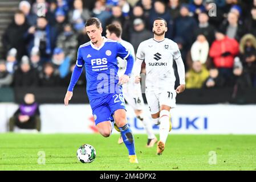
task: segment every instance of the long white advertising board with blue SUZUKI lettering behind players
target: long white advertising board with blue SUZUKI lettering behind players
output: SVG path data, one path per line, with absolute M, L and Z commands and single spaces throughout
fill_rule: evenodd
M 0 133 L 7 131 L 8 119 L 18 105 L 0 104 Z M 90 105 L 40 105 L 42 133 L 95 133 Z M 256 105 L 177 105 L 172 109 L 172 134 L 256 134 Z M 127 106 L 129 125 L 133 133 L 145 133 L 142 123 Z M 145 106 L 145 119 L 149 110 Z M 158 127 L 153 125 L 158 133 Z M 117 131 L 113 131 L 117 133 Z

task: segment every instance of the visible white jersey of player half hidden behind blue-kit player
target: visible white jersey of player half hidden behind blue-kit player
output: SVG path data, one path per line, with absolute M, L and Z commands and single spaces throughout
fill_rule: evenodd
M 135 51 L 131 43 L 121 40 L 119 42 L 122 46 L 124 46 L 132 55 L 133 58 L 135 58 Z M 126 67 L 127 67 L 127 61 L 124 59 L 121 59 L 121 57 L 117 57 L 117 65 L 119 67 L 117 75 L 120 77 L 121 75 L 124 75 Z

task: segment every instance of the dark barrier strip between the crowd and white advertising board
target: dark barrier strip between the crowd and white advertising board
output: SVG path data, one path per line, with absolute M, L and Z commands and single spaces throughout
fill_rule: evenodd
M 66 94 L 66 87 L 49 87 L 49 88 L 0 88 L 0 103 L 1 102 L 23 102 L 23 97 L 26 93 L 35 94 L 36 100 L 40 104 L 62 104 Z M 144 101 L 145 94 L 143 94 Z M 218 88 L 218 89 L 186 89 L 182 94 L 176 97 L 178 104 L 256 104 L 256 88 L 244 88 L 243 90 L 233 88 Z M 89 103 L 86 89 L 77 86 L 74 89 L 74 96 L 71 100 L 72 104 Z

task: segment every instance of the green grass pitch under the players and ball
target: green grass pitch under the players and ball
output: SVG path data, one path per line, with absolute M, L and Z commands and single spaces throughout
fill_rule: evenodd
M 170 134 L 165 151 L 158 156 L 156 146 L 145 147 L 147 135 L 137 134 L 139 164 L 128 162 L 128 152 L 124 144 L 117 144 L 118 138 L 117 134 L 109 138 L 100 134 L 0 134 L 0 170 L 256 170 L 256 135 Z M 84 143 L 96 148 L 96 159 L 90 164 L 76 158 L 76 150 Z M 38 164 L 43 161 L 40 151 L 45 164 Z

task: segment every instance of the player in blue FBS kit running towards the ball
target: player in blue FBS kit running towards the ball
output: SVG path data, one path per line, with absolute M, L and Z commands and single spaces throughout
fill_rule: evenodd
M 87 20 L 86 32 L 91 41 L 81 45 L 78 49 L 76 66 L 64 98 L 64 104 L 67 106 L 68 101 L 71 100 L 74 86 L 84 67 L 86 69 L 87 95 L 97 130 L 103 137 L 109 137 L 115 122 L 128 149 L 129 162 L 138 163 L 133 134 L 127 123 L 121 86 L 128 82 L 135 60 L 120 43 L 101 36 L 102 31 L 99 19 Z M 127 60 L 127 69 L 120 77 L 117 75 L 117 57 Z

